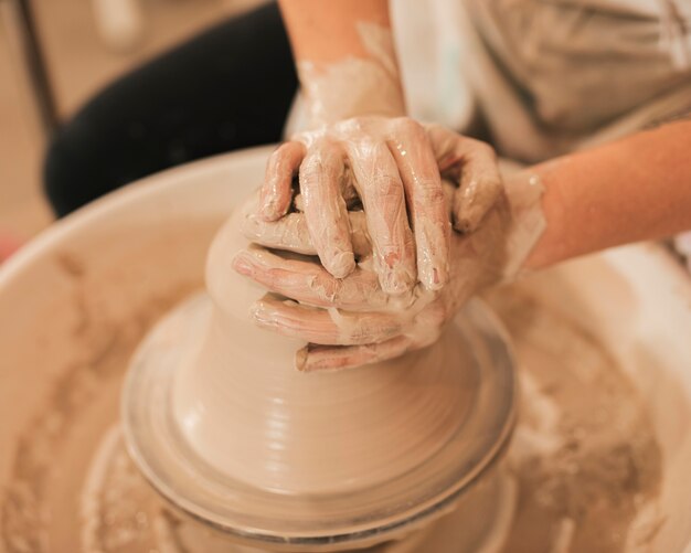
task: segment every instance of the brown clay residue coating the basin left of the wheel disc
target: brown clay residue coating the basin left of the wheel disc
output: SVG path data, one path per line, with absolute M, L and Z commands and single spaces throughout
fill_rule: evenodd
M 78 551 L 78 489 L 94 439 L 115 419 L 129 358 L 151 325 L 201 286 L 201 275 L 169 278 L 161 286 L 159 274 L 145 284 L 120 283 L 118 291 L 114 279 L 104 281 L 104 275 L 94 274 L 77 255 L 59 253 L 54 263 L 72 290 L 67 298 L 56 296 L 53 311 L 55 320 L 72 321 L 70 338 L 53 351 L 55 359 L 41 358 L 46 377 L 57 377 L 33 422 L 18 436 L 0 504 L 0 545 L 8 553 Z M 117 297 L 106 298 L 114 290 Z M 117 307 L 108 309 L 114 304 Z M 64 309 L 74 317 L 63 317 Z M 49 341 L 52 325 L 35 321 L 38 347 Z

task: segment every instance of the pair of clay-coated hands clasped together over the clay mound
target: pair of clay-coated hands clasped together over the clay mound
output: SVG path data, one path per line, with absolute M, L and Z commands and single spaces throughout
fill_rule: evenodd
M 491 148 L 397 119 L 408 135 L 394 148 L 385 134 L 381 142 L 368 134 L 359 146 L 344 138 L 365 125 L 383 127 L 376 119 L 346 121 L 342 134 L 319 131 L 281 146 L 269 160 L 261 195 L 245 206 L 243 232 L 254 244 L 236 255 L 234 268 L 268 290 L 252 310 L 257 325 L 309 342 L 296 357 L 301 370 L 358 366 L 432 344 L 460 306 L 502 279 L 508 266 L 512 202 Z M 440 172 L 460 185 L 443 183 Z M 440 196 L 429 191 L 437 185 Z M 415 193 L 422 198 L 410 200 Z M 445 234 L 449 221 L 466 232 Z M 333 263 L 323 263 L 334 236 L 340 252 L 352 258 L 352 267 L 336 272 L 346 273 L 340 278 Z M 384 252 L 401 255 L 387 264 Z M 426 267 L 421 268 L 421 257 Z M 429 267 L 445 262 L 443 286 L 425 278 L 433 274 Z M 412 280 L 392 286 L 402 284 L 401 273 Z

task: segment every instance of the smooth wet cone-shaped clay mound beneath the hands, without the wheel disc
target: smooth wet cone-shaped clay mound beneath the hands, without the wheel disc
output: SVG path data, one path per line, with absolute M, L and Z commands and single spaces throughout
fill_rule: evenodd
M 200 329 L 199 355 L 174 380 L 174 418 L 191 447 L 223 475 L 284 493 L 360 490 L 434 455 L 463 424 L 478 385 L 471 352 L 451 357 L 455 331 L 438 348 L 371 368 L 295 371 L 305 342 L 248 317 L 265 290 L 232 268 L 232 255 L 247 246 L 242 222 L 238 212 L 211 247 L 213 315 Z

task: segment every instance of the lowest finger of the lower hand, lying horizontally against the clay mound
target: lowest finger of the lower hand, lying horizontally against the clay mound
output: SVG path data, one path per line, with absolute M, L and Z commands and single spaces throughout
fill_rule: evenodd
M 403 355 L 412 348 L 412 341 L 405 336 L 392 338 L 385 342 L 365 345 L 315 345 L 308 344 L 296 353 L 298 371 L 325 371 L 353 369 Z

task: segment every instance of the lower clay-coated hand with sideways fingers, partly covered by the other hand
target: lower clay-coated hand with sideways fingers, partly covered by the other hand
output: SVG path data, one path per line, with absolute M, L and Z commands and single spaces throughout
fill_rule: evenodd
M 453 193 L 447 194 L 449 199 Z M 520 205 L 513 212 L 520 214 Z M 289 217 L 276 223 L 251 217 L 249 234 L 263 231 L 266 245 L 309 254 L 309 235 L 305 230 L 295 232 L 306 225 L 304 216 Z M 364 260 L 343 279 L 315 260 L 281 256 L 258 245 L 241 252 L 234 267 L 274 293 L 253 309 L 257 325 L 310 342 L 299 352 L 298 368 L 358 366 L 429 345 L 472 294 L 503 278 L 514 265 L 508 255 L 510 236 L 515 236 L 509 232 L 515 227 L 513 219 L 502 196 L 475 233 L 454 233 L 449 283 L 439 291 L 417 286 L 404 295 L 386 294 L 366 257 L 366 233 L 357 240 Z M 360 227 L 357 213 L 351 213 L 351 221 L 354 228 Z

